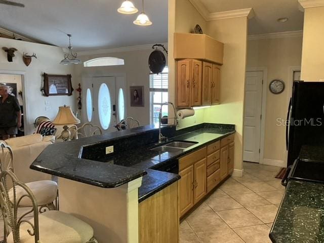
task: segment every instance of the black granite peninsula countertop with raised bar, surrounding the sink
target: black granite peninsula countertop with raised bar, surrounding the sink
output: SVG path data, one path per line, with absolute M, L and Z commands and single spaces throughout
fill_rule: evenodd
M 158 152 L 150 150 L 156 142 L 158 131 L 146 126 L 50 145 L 36 158 L 30 168 L 104 188 L 117 187 L 143 176 L 142 186 L 139 188 L 139 201 L 142 201 L 180 179 L 178 174 L 154 170 L 157 166 L 171 163 L 234 132 L 234 125 L 197 125 L 176 131 L 169 139 L 196 142 L 193 146 L 177 152 Z M 142 139 L 144 137 L 151 142 Z M 142 140 L 145 140 L 145 145 L 133 145 L 140 144 Z M 103 147 L 118 141 L 123 141 L 121 145 L 125 145 L 127 150 L 100 155 Z M 96 150 L 99 146 L 100 149 Z

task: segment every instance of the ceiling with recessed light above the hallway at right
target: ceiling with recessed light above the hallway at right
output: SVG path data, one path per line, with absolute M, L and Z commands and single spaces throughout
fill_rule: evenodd
M 249 33 L 275 33 L 303 29 L 304 13 L 298 0 L 199 0 L 210 13 L 253 8 L 255 17 L 249 20 Z M 278 18 L 287 17 L 286 23 Z

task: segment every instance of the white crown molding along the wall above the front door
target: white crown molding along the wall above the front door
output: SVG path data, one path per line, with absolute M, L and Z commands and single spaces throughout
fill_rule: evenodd
M 156 44 L 156 43 L 154 43 Z M 100 50 L 87 50 L 87 51 L 77 51 L 78 56 L 88 56 L 88 55 L 98 55 L 105 53 L 116 53 L 116 52 L 132 52 L 132 51 L 141 51 L 152 49 L 154 44 L 138 45 L 138 46 L 129 46 L 129 47 L 118 47 L 110 49 L 100 49 Z M 161 43 L 168 48 L 168 43 Z

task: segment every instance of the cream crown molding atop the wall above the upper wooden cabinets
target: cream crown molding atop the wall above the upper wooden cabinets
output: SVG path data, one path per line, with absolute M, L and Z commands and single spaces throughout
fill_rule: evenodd
M 239 17 L 248 17 L 249 19 L 251 19 L 254 17 L 254 11 L 252 8 L 210 13 L 200 0 L 189 0 L 189 2 L 206 21 Z

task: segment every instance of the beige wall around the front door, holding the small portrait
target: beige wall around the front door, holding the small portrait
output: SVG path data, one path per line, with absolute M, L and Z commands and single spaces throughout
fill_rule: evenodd
M 84 67 L 83 64 L 75 67 L 75 75 L 78 79 L 86 75 L 111 75 L 119 76 L 126 75 L 127 87 L 124 95 L 126 101 L 126 116 L 132 116 L 140 121 L 141 125 L 148 125 L 150 123 L 150 97 L 149 97 L 149 67 L 148 57 L 152 49 L 116 52 L 116 53 L 102 53 L 98 55 L 79 55 L 78 57 L 84 62 L 93 58 L 99 57 L 117 57 L 125 60 L 125 65 L 106 66 L 106 67 Z M 81 53 L 82 54 L 82 53 Z M 130 106 L 129 96 L 130 86 L 144 86 L 144 107 Z M 84 89 L 86 90 L 86 89 Z M 86 95 L 83 95 L 83 104 L 86 107 Z M 117 97 L 116 97 L 117 98 Z M 85 112 L 84 112 L 85 113 Z

